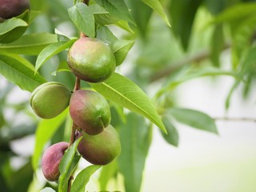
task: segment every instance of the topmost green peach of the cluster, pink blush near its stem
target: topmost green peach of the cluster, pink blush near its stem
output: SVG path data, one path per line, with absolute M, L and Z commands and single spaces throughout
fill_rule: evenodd
M 70 47 L 67 56 L 70 70 L 87 82 L 102 82 L 113 74 L 114 54 L 105 42 L 96 38 L 79 38 Z

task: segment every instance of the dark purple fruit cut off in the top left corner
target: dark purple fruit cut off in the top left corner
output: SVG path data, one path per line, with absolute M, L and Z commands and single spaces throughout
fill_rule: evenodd
M 0 0 L 0 18 L 13 18 L 30 10 L 29 0 Z

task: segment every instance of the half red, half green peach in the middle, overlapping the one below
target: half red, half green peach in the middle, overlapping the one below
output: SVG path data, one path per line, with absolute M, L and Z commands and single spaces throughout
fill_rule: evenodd
M 93 90 L 77 90 L 70 98 L 70 116 L 87 134 L 99 134 L 110 124 L 110 106 Z

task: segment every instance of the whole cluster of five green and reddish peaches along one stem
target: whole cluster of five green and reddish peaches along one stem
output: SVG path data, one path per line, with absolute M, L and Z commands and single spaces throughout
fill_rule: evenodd
M 115 70 L 114 54 L 104 42 L 96 38 L 79 38 L 70 47 L 67 57 L 70 70 L 87 82 L 102 82 Z M 75 138 L 81 136 L 78 152 L 88 162 L 106 165 L 120 154 L 117 131 L 110 125 L 110 106 L 94 90 L 74 90 L 72 93 L 59 82 L 46 82 L 31 95 L 30 106 L 41 118 L 54 118 L 70 106 L 70 116 L 77 126 Z M 58 142 L 46 149 L 42 156 L 42 172 L 49 181 L 57 181 L 58 166 L 67 142 Z

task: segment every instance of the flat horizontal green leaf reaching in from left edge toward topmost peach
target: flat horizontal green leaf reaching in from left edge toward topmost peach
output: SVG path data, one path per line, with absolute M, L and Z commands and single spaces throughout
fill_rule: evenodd
M 15 42 L 0 43 L 0 51 L 4 50 L 13 54 L 37 55 L 46 46 L 54 42 L 58 42 L 56 34 L 25 34 Z

